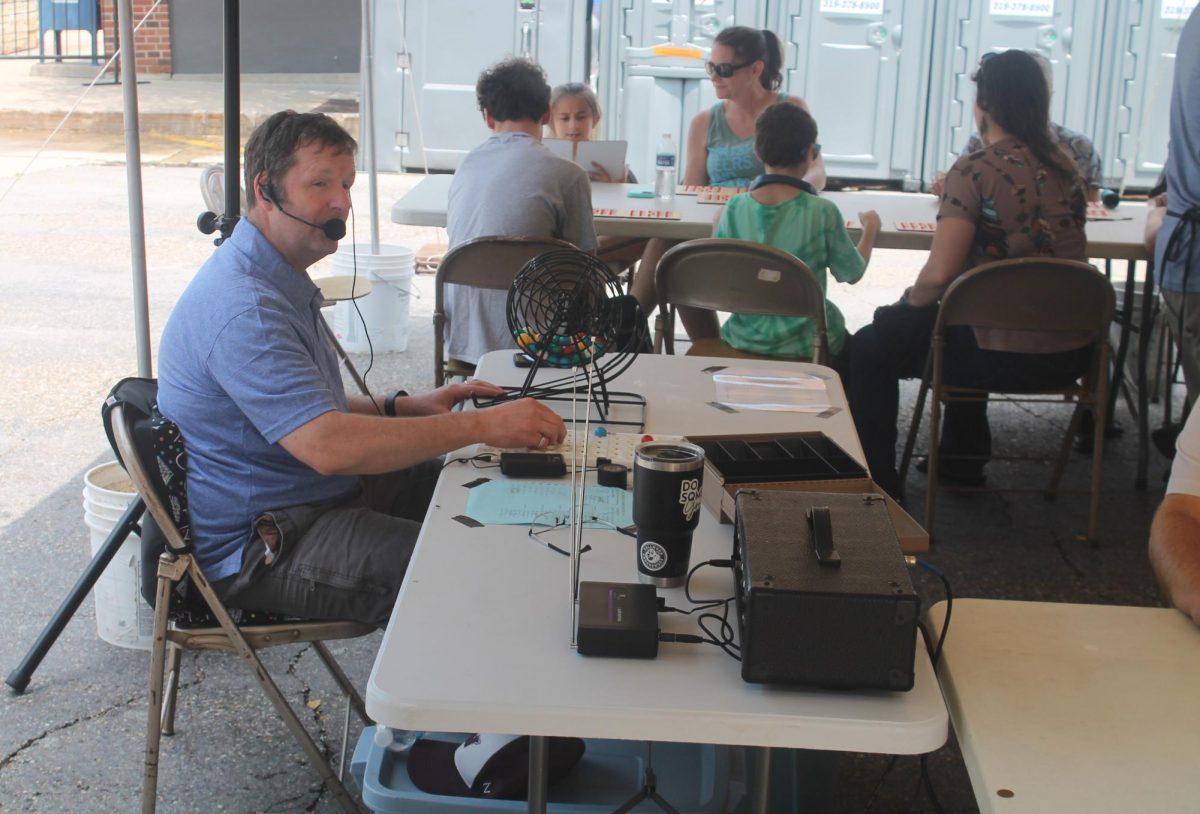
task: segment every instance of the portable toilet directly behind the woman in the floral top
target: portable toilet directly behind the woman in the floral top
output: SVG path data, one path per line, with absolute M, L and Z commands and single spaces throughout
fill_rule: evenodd
M 1043 53 L 1054 73 L 1050 120 L 1094 139 L 1104 29 L 1104 14 L 1097 13 L 1096 5 L 1086 0 L 938 4 L 925 130 L 925 184 L 949 169 L 974 133 L 971 77 L 988 52 L 1022 48 Z

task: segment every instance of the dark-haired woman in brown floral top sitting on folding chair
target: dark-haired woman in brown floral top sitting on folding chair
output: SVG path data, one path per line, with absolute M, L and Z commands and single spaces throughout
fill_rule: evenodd
M 989 55 L 976 72 L 976 122 L 983 148 L 950 168 L 934 244 L 916 283 L 900 303 L 875 312 L 850 351 L 847 391 L 876 483 L 904 493 L 895 471 L 899 379 L 922 375 L 937 303 L 962 273 L 1013 257 L 1086 259 L 1087 193 L 1079 172 L 1049 127 L 1050 94 L 1037 61 L 1024 50 Z M 944 381 L 1003 390 L 1067 384 L 1087 361 L 1087 348 L 1046 343 L 1044 336 L 950 328 Z M 991 453 L 988 403 L 947 406 L 938 474 L 984 481 Z

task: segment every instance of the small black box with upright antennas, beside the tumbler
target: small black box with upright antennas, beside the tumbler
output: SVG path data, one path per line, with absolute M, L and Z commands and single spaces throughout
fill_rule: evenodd
M 653 585 L 580 582 L 581 656 L 652 659 L 659 654 L 659 599 Z

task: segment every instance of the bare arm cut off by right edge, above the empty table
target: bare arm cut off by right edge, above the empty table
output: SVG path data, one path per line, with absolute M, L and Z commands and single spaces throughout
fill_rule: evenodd
M 1168 601 L 1200 626 L 1200 497 L 1163 498 L 1150 527 L 1150 564 Z

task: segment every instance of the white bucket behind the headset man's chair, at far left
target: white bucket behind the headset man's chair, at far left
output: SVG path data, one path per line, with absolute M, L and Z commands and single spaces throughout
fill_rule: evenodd
M 83 520 L 91 532 L 91 553 L 108 539 L 136 492 L 119 463 L 101 463 L 84 475 Z M 92 588 L 96 633 L 118 647 L 150 650 L 154 611 L 142 599 L 142 541 L 130 534 Z

